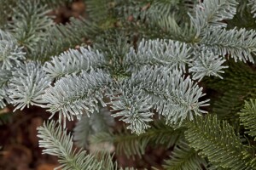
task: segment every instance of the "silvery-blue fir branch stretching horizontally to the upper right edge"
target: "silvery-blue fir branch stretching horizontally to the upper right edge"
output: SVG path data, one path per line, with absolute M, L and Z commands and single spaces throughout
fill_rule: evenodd
M 229 54 L 236 61 L 239 59 L 244 62 L 247 60 L 254 62 L 252 54 L 256 54 L 255 37 L 256 32 L 253 30 L 237 30 L 236 28 L 232 30 L 214 29 L 207 31 L 200 43 L 212 50 L 214 54 Z

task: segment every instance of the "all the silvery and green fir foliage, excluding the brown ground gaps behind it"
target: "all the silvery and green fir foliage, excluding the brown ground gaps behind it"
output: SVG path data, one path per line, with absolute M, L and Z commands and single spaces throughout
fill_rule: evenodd
M 84 148 L 141 157 L 163 145 L 164 169 L 256 169 L 256 1 L 84 0 L 87 18 L 56 24 L 49 11 L 72 3 L 0 0 L 0 107 L 52 114 L 44 153 L 62 169 L 128 170 Z

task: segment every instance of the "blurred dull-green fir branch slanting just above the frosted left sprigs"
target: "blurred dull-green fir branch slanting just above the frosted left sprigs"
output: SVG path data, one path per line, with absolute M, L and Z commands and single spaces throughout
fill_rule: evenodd
M 29 54 L 28 58 L 48 60 L 49 57 L 59 55 L 68 48 L 84 42 L 84 38 L 91 38 L 99 33 L 99 28 L 92 22 L 83 18 L 71 18 L 66 25 L 55 25 L 49 28 L 49 36 Z

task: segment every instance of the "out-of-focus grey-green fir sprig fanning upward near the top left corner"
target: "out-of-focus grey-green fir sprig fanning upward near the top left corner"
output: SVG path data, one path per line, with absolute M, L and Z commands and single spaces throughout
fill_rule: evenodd
M 32 51 L 38 42 L 44 41 L 49 36 L 49 27 L 54 23 L 46 15 L 48 13 L 47 6 L 41 5 L 38 0 L 20 1 L 14 8 L 9 31 L 14 34 L 20 45 Z

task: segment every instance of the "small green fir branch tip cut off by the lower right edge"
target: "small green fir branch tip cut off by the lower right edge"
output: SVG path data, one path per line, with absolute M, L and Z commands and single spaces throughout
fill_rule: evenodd
M 245 101 L 245 105 L 241 109 L 239 117 L 241 125 L 247 130 L 246 133 L 256 140 L 256 100 L 250 99 L 249 101 Z

